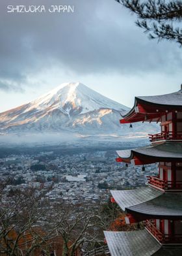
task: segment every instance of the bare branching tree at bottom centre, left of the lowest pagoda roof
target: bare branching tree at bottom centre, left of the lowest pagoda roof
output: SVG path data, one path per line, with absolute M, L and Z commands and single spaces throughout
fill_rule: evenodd
M 73 256 L 83 244 L 102 242 L 99 240 L 99 219 L 91 208 L 84 204 L 54 206 L 49 214 L 47 229 L 54 229 L 62 238 L 62 256 Z

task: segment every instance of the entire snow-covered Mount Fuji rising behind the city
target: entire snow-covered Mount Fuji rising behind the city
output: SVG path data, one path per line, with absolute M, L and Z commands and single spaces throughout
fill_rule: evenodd
M 116 103 L 87 86 L 64 83 L 42 97 L 0 113 L 0 133 L 79 133 L 80 135 L 147 134 L 152 124 L 137 123 L 133 129 L 120 125 L 127 106 Z

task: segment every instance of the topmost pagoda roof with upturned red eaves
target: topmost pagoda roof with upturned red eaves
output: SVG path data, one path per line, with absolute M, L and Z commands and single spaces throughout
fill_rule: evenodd
M 174 93 L 135 97 L 135 104 L 120 123 L 136 121 L 160 121 L 161 116 L 174 110 L 181 110 L 182 89 Z

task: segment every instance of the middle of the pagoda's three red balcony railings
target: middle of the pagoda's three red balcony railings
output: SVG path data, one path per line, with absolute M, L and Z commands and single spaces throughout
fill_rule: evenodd
M 182 180 L 172 182 L 167 180 L 161 180 L 157 176 L 147 176 L 147 178 L 148 184 L 159 187 L 160 189 L 182 190 Z

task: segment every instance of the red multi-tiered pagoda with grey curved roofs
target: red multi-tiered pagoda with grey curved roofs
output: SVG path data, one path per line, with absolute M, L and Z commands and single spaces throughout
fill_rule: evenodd
M 111 256 L 182 255 L 182 86 L 166 95 L 135 97 L 133 108 L 120 123 L 160 123 L 151 144 L 120 150 L 116 161 L 131 165 L 159 163 L 159 174 L 148 185 L 111 191 L 112 201 L 126 212 L 127 224 L 144 221 L 138 231 L 105 231 Z M 144 169 L 144 168 L 143 168 Z

